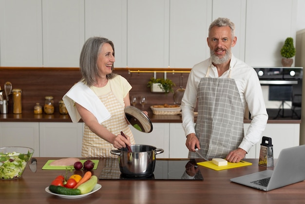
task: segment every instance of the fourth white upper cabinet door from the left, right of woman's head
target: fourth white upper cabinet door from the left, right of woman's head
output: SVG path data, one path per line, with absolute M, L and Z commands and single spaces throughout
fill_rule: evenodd
M 169 66 L 169 0 L 132 0 L 127 4 L 127 65 Z

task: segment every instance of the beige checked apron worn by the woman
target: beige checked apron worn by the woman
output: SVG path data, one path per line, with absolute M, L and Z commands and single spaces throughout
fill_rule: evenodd
M 117 101 L 114 94 L 110 91 L 108 94 L 99 97 L 104 103 L 105 107 L 111 114 L 111 118 L 105 122 L 102 122 L 105 128 L 107 128 L 114 135 L 120 134 L 121 131 L 130 137 L 130 142 L 134 144 L 133 133 L 129 128 L 126 120 L 124 107 Z M 85 124 L 81 156 L 82 157 L 112 157 L 116 158 L 116 155 L 110 153 L 110 150 L 116 149 L 112 143 L 101 139 L 95 133 L 93 133 L 89 127 Z

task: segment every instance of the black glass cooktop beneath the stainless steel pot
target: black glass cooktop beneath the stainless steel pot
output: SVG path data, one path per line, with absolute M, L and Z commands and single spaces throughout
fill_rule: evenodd
M 104 180 L 203 180 L 195 160 L 156 160 L 152 175 L 125 176 L 117 158 L 107 158 L 99 179 Z

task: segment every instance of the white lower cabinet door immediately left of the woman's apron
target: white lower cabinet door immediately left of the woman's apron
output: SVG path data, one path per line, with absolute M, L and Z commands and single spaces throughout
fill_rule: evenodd
M 81 157 L 82 135 L 82 122 L 39 122 L 40 157 Z

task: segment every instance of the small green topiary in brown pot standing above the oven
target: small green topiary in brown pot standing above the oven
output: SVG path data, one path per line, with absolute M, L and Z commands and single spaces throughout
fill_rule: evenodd
M 281 55 L 283 57 L 283 66 L 291 66 L 293 63 L 292 57 L 295 56 L 295 47 L 293 45 L 292 38 L 286 38 L 285 43 L 281 49 Z

